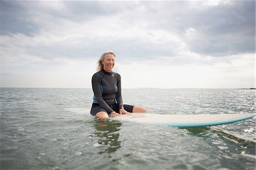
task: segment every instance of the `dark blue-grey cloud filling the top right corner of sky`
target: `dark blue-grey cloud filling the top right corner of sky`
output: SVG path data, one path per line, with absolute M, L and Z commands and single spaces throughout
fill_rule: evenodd
M 162 3 L 167 7 L 161 8 L 163 14 L 152 16 L 156 22 L 149 27 L 176 32 L 192 52 L 211 56 L 255 52 L 255 1 L 228 1 L 207 7 L 196 1 L 181 2 L 179 10 L 170 12 L 168 7 L 177 2 Z M 191 27 L 196 32 L 188 40 L 185 33 Z

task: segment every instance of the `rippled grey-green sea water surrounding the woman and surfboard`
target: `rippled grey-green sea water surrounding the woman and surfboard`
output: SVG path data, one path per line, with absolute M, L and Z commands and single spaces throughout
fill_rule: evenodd
M 148 114 L 255 113 L 255 90 L 123 89 Z M 255 120 L 177 128 L 98 121 L 91 89 L 1 88 L 0 169 L 255 169 Z

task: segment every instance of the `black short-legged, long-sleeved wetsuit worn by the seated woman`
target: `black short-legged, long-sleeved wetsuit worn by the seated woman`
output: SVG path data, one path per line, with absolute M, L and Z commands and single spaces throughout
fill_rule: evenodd
M 132 112 L 133 106 L 123 105 L 121 94 L 121 76 L 115 72 L 106 72 L 104 69 L 93 74 L 93 105 L 90 113 L 96 115 L 98 111 L 105 111 L 110 114 L 119 109 Z

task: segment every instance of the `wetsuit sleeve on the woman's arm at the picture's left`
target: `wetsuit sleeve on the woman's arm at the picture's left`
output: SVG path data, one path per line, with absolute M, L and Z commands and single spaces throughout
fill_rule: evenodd
M 101 78 L 97 74 L 94 74 L 92 77 L 92 89 L 94 96 L 96 97 L 98 104 L 108 112 L 108 114 L 112 113 L 113 110 L 109 105 L 104 101 L 101 94 Z

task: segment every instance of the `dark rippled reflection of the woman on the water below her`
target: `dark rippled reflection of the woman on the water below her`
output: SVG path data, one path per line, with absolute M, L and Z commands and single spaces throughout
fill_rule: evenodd
M 96 131 L 94 132 L 93 136 L 98 136 L 98 144 L 108 146 L 105 150 L 101 150 L 98 154 L 103 153 L 112 153 L 118 150 L 121 147 L 121 141 L 118 140 L 119 138 L 119 130 L 121 129 L 122 123 L 119 121 L 114 120 L 106 120 L 100 121 L 96 120 L 94 126 Z

